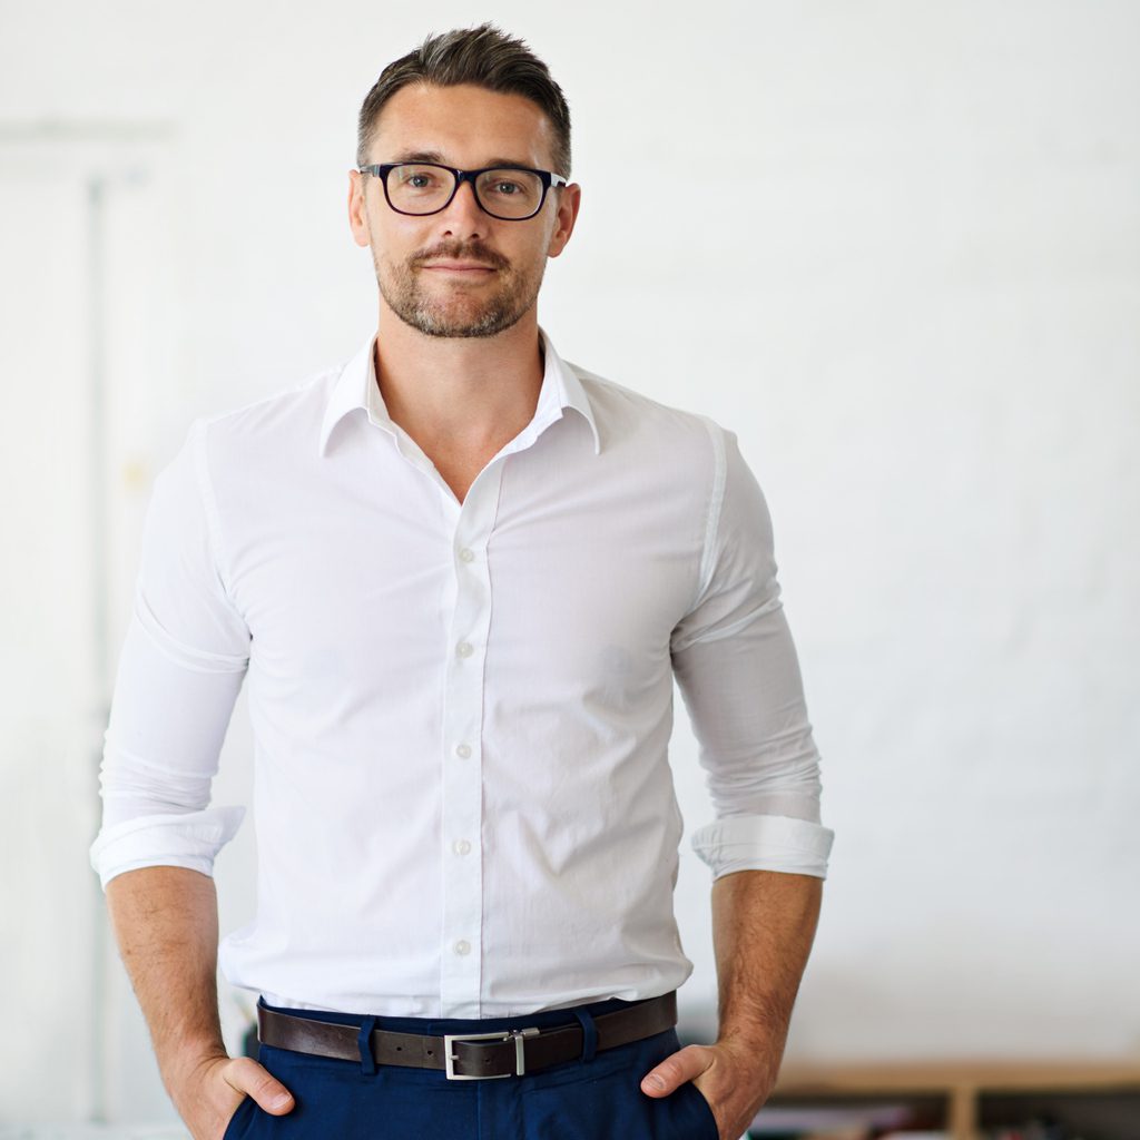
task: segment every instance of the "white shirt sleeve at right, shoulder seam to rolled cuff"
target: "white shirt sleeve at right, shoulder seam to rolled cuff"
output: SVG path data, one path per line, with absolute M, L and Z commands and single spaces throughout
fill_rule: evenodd
M 714 822 L 693 836 L 714 877 L 824 878 L 820 756 L 780 601 L 772 522 L 736 438 L 709 423 L 714 478 L 700 587 L 673 632 L 674 671 L 707 773 Z

